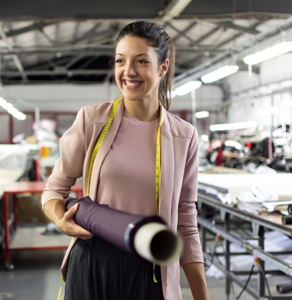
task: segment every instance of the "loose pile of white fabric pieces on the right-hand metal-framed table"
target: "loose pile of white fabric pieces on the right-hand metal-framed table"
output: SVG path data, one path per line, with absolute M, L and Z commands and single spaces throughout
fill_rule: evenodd
M 237 207 L 254 214 L 280 211 L 288 214 L 288 205 L 292 204 L 292 191 L 279 187 L 251 187 L 237 197 Z

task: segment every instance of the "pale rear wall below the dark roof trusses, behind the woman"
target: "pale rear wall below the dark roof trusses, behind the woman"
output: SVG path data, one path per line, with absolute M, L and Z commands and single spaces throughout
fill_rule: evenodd
M 119 95 L 117 85 L 8 85 L 0 92 L 0 97 L 11 101 L 22 111 L 34 111 L 32 106 L 22 104 L 18 98 L 38 106 L 41 111 L 74 111 L 88 104 L 113 101 Z M 197 107 L 220 104 L 223 95 L 217 86 L 202 85 L 196 91 Z M 176 96 L 172 100 L 171 110 L 191 110 L 191 94 Z M 0 108 L 1 111 L 1 108 Z M 4 111 L 4 110 L 2 110 Z

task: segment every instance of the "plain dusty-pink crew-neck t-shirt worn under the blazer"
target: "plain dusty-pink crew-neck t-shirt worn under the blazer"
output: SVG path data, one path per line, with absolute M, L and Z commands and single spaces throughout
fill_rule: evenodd
M 125 110 L 100 170 L 97 202 L 144 216 L 156 215 L 155 161 L 159 118 L 138 121 Z

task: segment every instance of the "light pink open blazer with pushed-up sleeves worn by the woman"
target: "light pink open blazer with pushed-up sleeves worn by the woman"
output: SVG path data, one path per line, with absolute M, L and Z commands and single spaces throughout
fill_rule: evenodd
M 83 107 L 72 127 L 60 139 L 60 158 L 56 161 L 52 175 L 41 196 L 44 207 L 51 199 L 64 201 L 82 176 L 83 195 L 86 195 L 89 166 L 93 149 L 107 122 L 114 101 Z M 160 103 L 160 107 L 164 110 Z M 114 140 L 122 120 L 124 101 L 120 101 L 112 124 L 104 138 L 93 165 L 89 197 L 96 199 L 101 164 Z M 161 113 L 160 113 L 161 118 Z M 203 253 L 197 230 L 197 180 L 198 138 L 197 131 L 188 122 L 164 110 L 161 126 L 161 176 L 159 191 L 159 216 L 182 235 L 184 248 L 180 259 L 161 266 L 164 298 L 182 299 L 179 286 L 179 265 L 203 262 Z M 68 258 L 77 238 L 73 238 L 65 254 L 61 273 L 66 280 Z

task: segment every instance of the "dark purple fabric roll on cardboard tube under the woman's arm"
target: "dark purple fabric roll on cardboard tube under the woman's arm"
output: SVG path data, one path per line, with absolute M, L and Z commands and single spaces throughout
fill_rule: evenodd
M 176 260 L 182 251 L 182 239 L 157 216 L 145 217 L 93 202 L 89 196 L 65 199 L 66 209 L 76 203 L 74 216 L 78 225 L 122 250 L 150 262 L 165 265 Z

